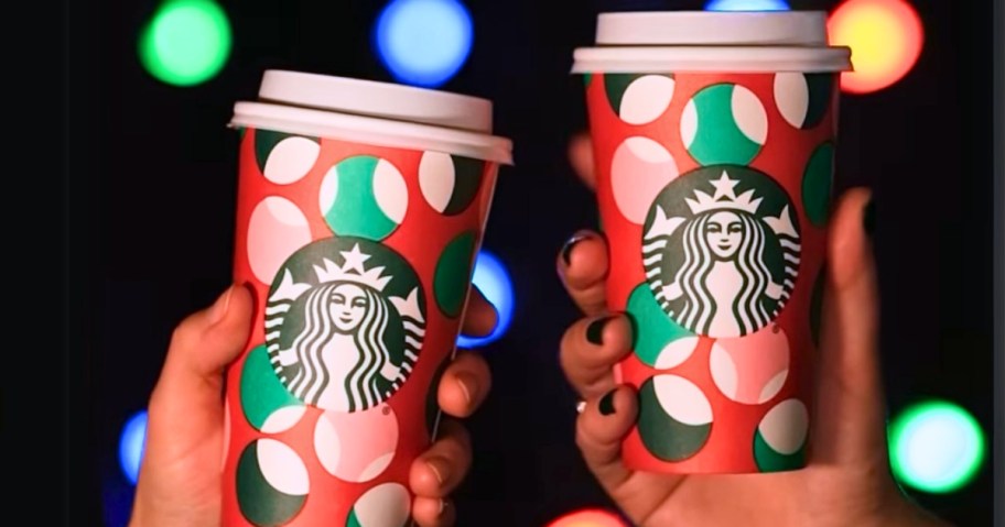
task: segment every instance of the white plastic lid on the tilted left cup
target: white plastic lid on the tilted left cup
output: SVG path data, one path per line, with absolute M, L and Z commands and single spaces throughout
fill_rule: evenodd
M 233 127 L 512 163 L 512 142 L 491 135 L 493 103 L 389 83 L 267 70 L 259 101 L 238 102 Z

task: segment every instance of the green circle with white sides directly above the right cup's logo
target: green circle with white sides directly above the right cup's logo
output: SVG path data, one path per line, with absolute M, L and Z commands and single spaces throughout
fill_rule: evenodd
M 747 165 L 767 141 L 767 112 L 747 88 L 710 86 L 692 98 L 681 118 L 688 152 L 703 166 Z

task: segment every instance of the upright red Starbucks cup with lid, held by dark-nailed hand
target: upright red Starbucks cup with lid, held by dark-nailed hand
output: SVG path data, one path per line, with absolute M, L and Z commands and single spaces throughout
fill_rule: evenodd
M 584 74 L 633 469 L 806 465 L 838 131 L 822 12 L 605 13 Z

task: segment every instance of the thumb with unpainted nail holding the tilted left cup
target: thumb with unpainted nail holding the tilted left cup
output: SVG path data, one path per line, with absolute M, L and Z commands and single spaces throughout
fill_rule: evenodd
M 175 328 L 150 398 L 149 455 L 171 459 L 171 453 L 188 451 L 223 427 L 224 370 L 247 343 L 252 303 L 246 287 L 231 286 L 213 306 Z M 170 452 L 158 452 L 162 448 Z

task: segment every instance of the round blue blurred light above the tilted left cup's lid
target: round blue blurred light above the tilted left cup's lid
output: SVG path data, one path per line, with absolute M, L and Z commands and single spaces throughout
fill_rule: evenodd
M 471 54 L 472 18 L 458 0 L 392 0 L 377 19 L 383 65 L 400 83 L 435 88 Z

